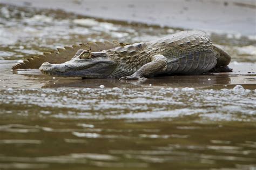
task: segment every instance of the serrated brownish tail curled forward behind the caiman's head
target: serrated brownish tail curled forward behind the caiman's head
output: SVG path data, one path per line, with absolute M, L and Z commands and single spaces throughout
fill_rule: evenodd
M 64 49 L 57 48 L 56 51 L 44 52 L 43 55 L 33 56 L 23 60 L 23 62 L 12 66 L 12 70 L 16 69 L 39 69 L 44 62 L 51 64 L 60 64 L 68 62 L 79 49 L 91 50 L 91 52 L 113 49 L 117 46 L 122 46 L 123 43 L 119 43 L 117 40 L 113 42 L 89 42 L 85 44 L 64 46 Z

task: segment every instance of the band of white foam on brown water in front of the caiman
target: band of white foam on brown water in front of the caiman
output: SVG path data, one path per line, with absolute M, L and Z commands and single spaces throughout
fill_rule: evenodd
M 239 112 L 244 115 L 242 120 L 248 121 L 246 117 L 256 114 L 253 107 L 256 105 L 254 91 L 244 89 L 241 85 L 221 91 L 212 89 L 195 90 L 188 87 L 173 91 L 173 89 L 162 87 L 159 91 L 148 89 L 146 92 L 139 89 L 99 88 L 70 89 L 68 91 L 66 89 L 48 89 L 41 93 L 36 89 L 32 91 L 9 89 L 7 91 L 2 90 L 5 93 L 5 96 L 0 98 L 2 104 L 12 103 L 12 105 L 22 104 L 45 108 L 57 107 L 64 110 L 68 108 L 78 111 L 78 114 L 41 112 L 44 116 L 49 115 L 50 117 L 64 119 L 151 120 L 184 117 L 186 115 L 200 115 L 201 118 L 214 115 L 217 118 L 218 115 L 222 115 L 222 117 L 232 115 L 232 117 L 235 117 L 233 113 Z M 12 98 L 13 93 L 16 94 L 15 98 Z M 164 96 L 162 96 L 162 93 L 164 93 Z M 44 95 L 43 98 L 42 94 Z M 246 98 L 242 98 L 243 96 L 246 96 Z M 26 100 L 28 98 L 30 100 Z M 117 101 L 119 101 L 118 105 Z M 204 109 L 205 106 L 207 106 L 207 109 Z M 133 112 L 123 112 L 126 109 Z M 218 114 L 215 110 L 218 111 Z M 47 114 L 45 114 L 46 112 Z M 238 116 L 240 119 L 240 115 Z M 211 116 L 211 118 L 214 117 Z M 254 119 L 251 119 L 251 121 L 254 121 Z

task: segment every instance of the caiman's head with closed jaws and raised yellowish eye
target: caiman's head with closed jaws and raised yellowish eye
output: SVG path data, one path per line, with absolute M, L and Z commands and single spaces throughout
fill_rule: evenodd
M 39 70 L 51 76 L 106 78 L 113 72 L 116 65 L 116 62 L 104 52 L 80 49 L 70 61 L 62 64 L 45 62 Z

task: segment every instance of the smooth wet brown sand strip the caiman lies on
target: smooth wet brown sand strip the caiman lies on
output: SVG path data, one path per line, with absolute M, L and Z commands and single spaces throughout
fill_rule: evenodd
M 0 89 L 8 88 L 57 88 L 57 87 L 79 87 L 99 88 L 105 87 L 194 87 L 207 89 L 233 88 L 235 85 L 246 85 L 248 89 L 254 90 L 256 84 L 255 63 L 232 63 L 232 73 L 213 73 L 198 76 L 167 76 L 148 78 L 146 81 L 130 80 L 119 81 L 118 79 L 81 79 L 47 76 L 39 70 L 17 70 L 12 72 L 10 67 L 16 62 L 2 60 L 0 62 Z

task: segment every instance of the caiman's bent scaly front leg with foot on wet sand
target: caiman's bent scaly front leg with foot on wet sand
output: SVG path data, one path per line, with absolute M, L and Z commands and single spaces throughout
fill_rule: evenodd
M 163 55 L 154 55 L 151 57 L 149 63 L 140 67 L 131 76 L 121 77 L 123 79 L 145 79 L 145 77 L 152 77 L 158 73 L 164 72 L 167 69 L 167 59 Z

